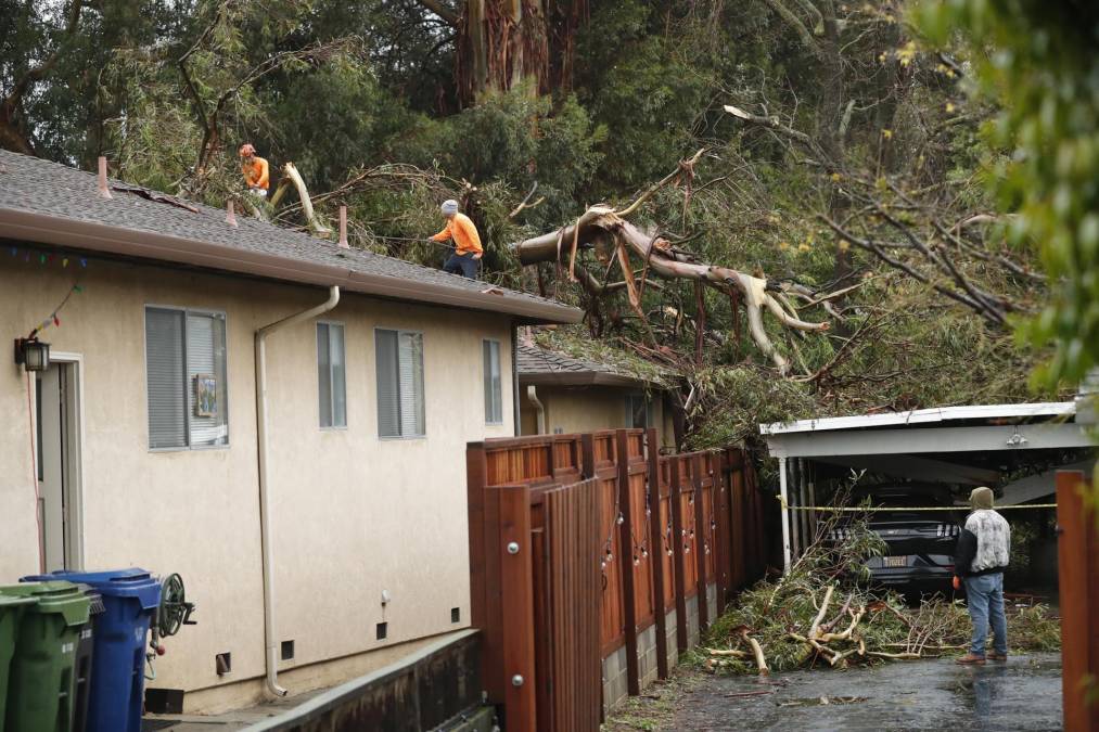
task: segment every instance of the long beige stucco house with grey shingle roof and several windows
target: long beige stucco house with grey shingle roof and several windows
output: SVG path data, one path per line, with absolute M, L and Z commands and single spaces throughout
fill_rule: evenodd
M 8 343 L 51 346 L 0 367 L 0 583 L 180 573 L 148 686 L 188 712 L 468 625 L 466 443 L 578 310 L 8 152 L 0 244 Z

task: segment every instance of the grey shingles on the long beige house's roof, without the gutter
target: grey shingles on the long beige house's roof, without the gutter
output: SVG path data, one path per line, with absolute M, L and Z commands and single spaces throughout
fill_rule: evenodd
M 342 270 L 352 284 L 351 289 L 369 292 L 367 285 L 354 287 L 356 275 L 363 275 L 365 280 L 374 277 L 398 280 L 386 289 L 387 297 L 398 297 L 417 301 L 434 301 L 431 292 L 458 296 L 463 302 L 476 300 L 484 302 L 468 304 L 474 309 L 485 309 L 498 312 L 514 312 L 537 319 L 543 315 L 546 321 L 576 322 L 580 311 L 555 300 L 540 298 L 525 292 L 490 286 L 487 282 L 470 280 L 457 275 L 449 275 L 440 269 L 423 267 L 410 262 L 382 256 L 358 248 L 344 248 L 334 242 L 326 242 L 308 234 L 281 229 L 264 223 L 247 215 L 237 215 L 237 226 L 225 223 L 225 211 L 213 209 L 201 203 L 186 201 L 184 206 L 173 206 L 168 202 L 149 200 L 132 191 L 145 191 L 118 180 L 111 180 L 112 186 L 125 190 L 113 190 L 112 199 L 104 199 L 97 191 L 97 180 L 93 174 L 85 173 L 57 163 L 35 157 L 0 151 L 0 236 L 13 239 L 32 239 L 44 243 L 59 244 L 48 241 L 43 233 L 35 239 L 33 229 L 5 225 L 5 215 L 36 214 L 51 219 L 77 222 L 82 224 L 104 225 L 127 230 L 135 234 L 157 236 L 175 236 L 186 242 L 218 247 L 210 251 L 223 251 L 225 262 L 235 260 L 234 255 L 242 255 L 241 260 L 253 260 L 258 256 L 277 257 L 286 264 L 285 279 L 290 281 L 313 281 L 298 279 L 292 275 L 295 267 L 320 266 Z M 167 196 L 158 191 L 147 191 L 153 196 Z M 188 210 L 188 208 L 192 210 Z M 7 230 L 7 231 L 5 231 Z M 185 242 L 185 243 L 186 243 Z M 99 249 L 96 239 L 89 237 L 81 244 L 90 251 Z M 209 247 L 207 247 L 209 249 Z M 182 260 L 181 257 L 166 260 Z M 244 265 L 224 267 L 227 271 L 255 274 Z M 320 269 L 319 269 L 320 270 Z M 332 271 L 329 269 L 328 271 Z M 393 295 L 395 287 L 401 282 L 415 284 L 410 288 L 408 297 Z M 426 286 L 424 288 L 423 286 Z M 495 291 L 488 292 L 492 289 Z M 411 291 L 414 290 L 414 291 Z M 451 300 L 455 300 L 454 297 Z M 440 301 L 446 301 L 440 297 Z

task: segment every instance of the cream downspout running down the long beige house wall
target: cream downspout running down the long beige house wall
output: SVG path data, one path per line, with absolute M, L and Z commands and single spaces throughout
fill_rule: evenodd
M 278 697 L 288 692 L 278 685 L 278 658 L 275 656 L 275 577 L 271 562 L 270 502 L 267 498 L 267 352 L 265 341 L 277 330 L 328 312 L 340 302 L 340 288 L 329 288 L 322 304 L 284 318 L 256 331 L 256 442 L 259 459 L 259 537 L 264 568 L 264 641 L 267 645 L 267 688 Z

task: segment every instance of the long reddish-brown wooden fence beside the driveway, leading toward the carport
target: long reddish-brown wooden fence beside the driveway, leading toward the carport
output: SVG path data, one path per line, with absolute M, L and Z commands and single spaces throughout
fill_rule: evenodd
M 751 461 L 656 445 L 655 430 L 468 445 L 471 622 L 507 729 L 598 730 L 618 679 L 636 695 L 665 678 L 765 572 L 774 501 Z

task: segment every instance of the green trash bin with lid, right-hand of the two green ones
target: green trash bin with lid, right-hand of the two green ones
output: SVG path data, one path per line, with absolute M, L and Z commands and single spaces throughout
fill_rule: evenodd
M 0 595 L 35 600 L 19 623 L 8 680 L 7 732 L 68 732 L 73 725 L 80 629 L 88 597 L 73 583 L 26 583 L 0 587 Z

